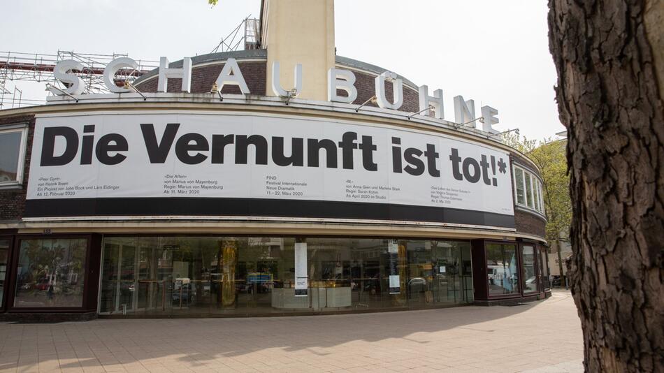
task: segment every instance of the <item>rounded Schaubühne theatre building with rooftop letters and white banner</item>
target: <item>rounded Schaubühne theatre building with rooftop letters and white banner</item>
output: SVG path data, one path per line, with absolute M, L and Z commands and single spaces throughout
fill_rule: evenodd
M 0 110 L 0 320 L 550 295 L 542 182 L 498 110 L 443 110 L 336 55 L 331 0 L 289 3 L 264 1 L 254 49 L 162 60 L 106 94 L 64 61 L 45 105 Z

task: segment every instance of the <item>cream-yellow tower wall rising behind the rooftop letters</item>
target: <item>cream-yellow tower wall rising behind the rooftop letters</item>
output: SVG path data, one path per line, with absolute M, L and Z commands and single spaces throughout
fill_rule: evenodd
M 266 0 L 262 45 L 268 50 L 266 93 L 272 92 L 272 63 L 280 63 L 284 89 L 294 87 L 302 64 L 298 98 L 327 100 L 327 71 L 334 67 L 334 0 Z

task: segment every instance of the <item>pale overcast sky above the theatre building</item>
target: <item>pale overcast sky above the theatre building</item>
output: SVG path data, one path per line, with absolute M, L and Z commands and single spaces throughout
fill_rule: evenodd
M 122 4 L 120 6 L 120 4 Z M 556 68 L 549 54 L 546 0 L 335 0 L 337 54 L 387 68 L 429 92 L 442 89 L 445 119 L 454 96 L 498 109 L 494 129 L 555 138 Z M 158 61 L 211 52 L 260 0 L 60 0 L 3 3 L 0 51 L 129 54 Z M 10 15 L 8 17 L 8 15 Z M 12 31 L 13 30 L 13 31 Z M 11 82 L 25 98 L 43 85 Z

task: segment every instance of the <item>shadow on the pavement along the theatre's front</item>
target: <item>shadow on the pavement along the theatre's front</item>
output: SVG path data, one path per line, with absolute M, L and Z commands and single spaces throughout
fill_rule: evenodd
M 323 316 L 284 316 L 238 319 L 103 319 L 85 323 L 55 325 L 0 325 L 0 341 L 5 345 L 17 339 L 26 344 L 36 338 L 40 344 L 55 346 L 53 360 L 59 367 L 93 367 L 126 364 L 136 360 L 157 362 L 166 356 L 178 356 L 187 364 L 204 365 L 210 360 L 233 358 L 243 360 L 261 353 L 262 356 L 282 353 L 286 360 L 296 360 L 298 351 L 326 356 L 334 346 L 364 341 L 379 343 L 372 354 L 389 357 L 390 344 L 403 339 L 408 349 L 417 354 L 431 340 L 435 332 L 459 328 L 455 333 L 470 333 L 482 340 L 496 332 L 499 319 L 515 316 L 550 300 L 531 302 L 516 307 L 454 307 L 421 311 L 380 312 L 366 314 L 338 314 Z M 4 337 L 1 337 L 4 335 Z M 33 337 L 30 337 L 34 335 Z M 28 340 L 26 340 L 26 338 Z M 374 346 L 374 345 L 372 345 Z M 383 348 L 384 346 L 384 348 Z M 287 351 L 288 354 L 283 352 Z M 48 355 L 40 351 L 39 364 Z M 62 364 L 62 356 L 75 360 Z M 255 356 L 253 357 L 255 358 Z M 223 359 L 222 359 L 223 360 Z M 0 369 L 10 367 L 0 360 Z M 22 367 L 19 360 L 19 368 Z M 79 365 L 80 363 L 80 365 Z M 145 364 L 145 363 L 143 363 Z M 29 364 L 27 364 L 29 365 Z M 16 367 L 15 363 L 11 367 Z

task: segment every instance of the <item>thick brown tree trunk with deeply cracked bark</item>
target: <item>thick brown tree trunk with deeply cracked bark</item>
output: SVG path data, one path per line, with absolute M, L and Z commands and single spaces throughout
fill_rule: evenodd
M 549 0 L 574 208 L 568 276 L 589 372 L 664 371 L 663 8 Z

